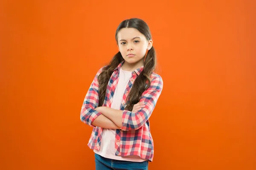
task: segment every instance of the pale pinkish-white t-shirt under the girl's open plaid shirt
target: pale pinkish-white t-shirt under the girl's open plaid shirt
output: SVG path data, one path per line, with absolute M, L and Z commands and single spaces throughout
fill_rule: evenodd
M 116 86 L 115 93 L 113 95 L 113 101 L 111 104 L 112 109 L 120 109 L 120 105 L 122 102 L 122 97 L 125 92 L 125 88 L 131 79 L 132 72 L 122 70 L 120 67 L 119 72 L 119 81 Z M 103 128 L 101 146 L 99 151 L 93 150 L 95 153 L 103 156 L 105 158 L 122 160 L 122 161 L 134 161 L 134 162 L 142 162 L 146 161 L 145 159 L 140 158 L 140 156 L 116 156 L 115 155 L 115 139 L 116 139 L 116 130 L 115 129 L 107 129 Z

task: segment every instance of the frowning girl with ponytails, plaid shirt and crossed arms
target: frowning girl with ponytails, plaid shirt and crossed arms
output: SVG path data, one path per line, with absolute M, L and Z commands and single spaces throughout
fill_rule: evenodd
M 96 170 L 147 170 L 154 144 L 149 117 L 163 89 L 148 25 L 138 18 L 116 29 L 119 52 L 97 72 L 81 108 L 93 127 L 88 146 Z

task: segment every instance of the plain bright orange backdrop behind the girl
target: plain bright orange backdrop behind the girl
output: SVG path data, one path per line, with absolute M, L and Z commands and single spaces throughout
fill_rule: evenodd
M 81 106 L 139 17 L 164 82 L 149 170 L 255 170 L 255 2 L 1 1 L 0 169 L 95 169 Z

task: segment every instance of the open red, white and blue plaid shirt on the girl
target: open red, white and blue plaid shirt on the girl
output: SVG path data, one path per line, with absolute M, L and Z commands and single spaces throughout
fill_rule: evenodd
M 119 80 L 119 69 L 124 61 L 122 61 L 116 69 L 113 70 L 110 81 L 106 90 L 106 97 L 103 106 L 111 107 L 113 95 Z M 90 136 L 88 146 L 90 149 L 99 150 L 102 138 L 102 127 L 95 127 L 92 122 L 102 113 L 95 110 L 99 106 L 99 82 L 98 76 L 102 72 L 102 67 L 97 72 L 92 84 L 84 98 L 84 103 L 81 108 L 81 121 L 93 127 L 93 132 Z M 117 156 L 137 155 L 149 161 L 153 160 L 154 144 L 150 133 L 149 117 L 154 110 L 157 100 L 163 89 L 163 80 L 156 73 L 151 74 L 151 84 L 145 92 L 143 92 L 140 102 L 145 103 L 145 107 L 138 112 L 124 110 L 126 107 L 126 98 L 134 83 L 134 80 L 143 71 L 144 66 L 134 70 L 132 77 L 129 80 L 120 105 L 122 114 L 122 127 L 116 130 L 115 149 Z

